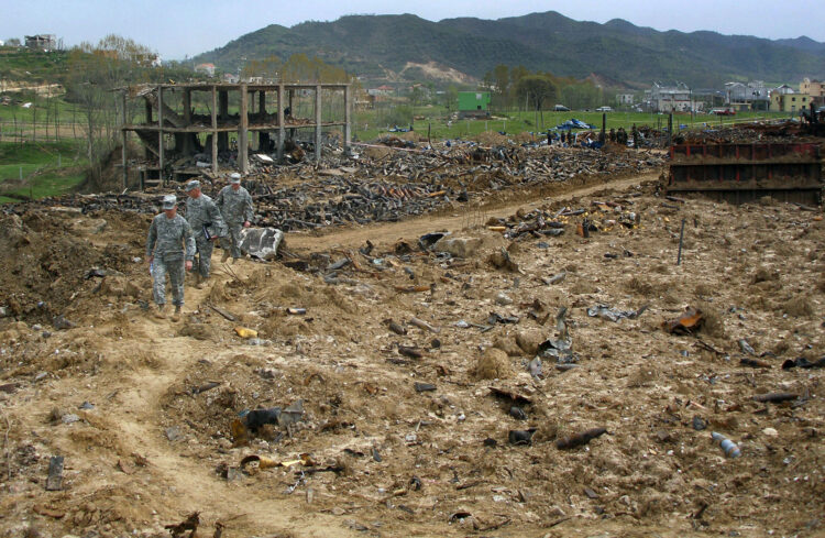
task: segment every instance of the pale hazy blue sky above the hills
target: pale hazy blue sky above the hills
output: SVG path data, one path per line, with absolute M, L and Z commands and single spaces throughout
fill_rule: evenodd
M 210 51 L 268 24 L 292 26 L 345 14 L 405 12 L 438 21 L 553 10 L 579 21 L 618 18 L 657 30 L 713 30 L 769 39 L 807 35 L 825 42 L 825 0 L 4 0 L 2 4 L 0 40 L 53 33 L 70 46 L 116 33 L 160 52 L 164 59 Z

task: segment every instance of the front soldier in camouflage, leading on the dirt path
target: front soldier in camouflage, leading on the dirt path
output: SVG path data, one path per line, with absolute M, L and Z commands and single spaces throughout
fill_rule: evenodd
M 184 248 L 186 251 L 184 251 Z M 156 318 L 165 318 L 166 274 L 172 284 L 172 304 L 175 305 L 173 321 L 180 319 L 184 305 L 184 268 L 191 271 L 195 257 L 195 237 L 189 223 L 177 215 L 177 198 L 164 196 L 163 213 L 152 219 L 146 238 L 146 260 L 152 272 L 152 295 L 157 310 Z

